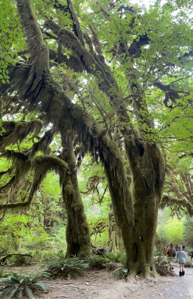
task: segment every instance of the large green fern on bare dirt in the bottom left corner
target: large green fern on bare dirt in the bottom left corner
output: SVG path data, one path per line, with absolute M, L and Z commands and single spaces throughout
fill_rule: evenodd
M 10 299 L 14 297 L 22 298 L 28 296 L 33 298 L 34 293 L 40 293 L 48 291 L 48 288 L 44 283 L 39 282 L 45 277 L 49 277 L 48 273 L 42 272 L 37 274 L 18 274 L 9 272 L 0 278 L 0 283 L 3 285 L 3 289 L 0 291 L 0 295 L 3 295 L 3 299 Z

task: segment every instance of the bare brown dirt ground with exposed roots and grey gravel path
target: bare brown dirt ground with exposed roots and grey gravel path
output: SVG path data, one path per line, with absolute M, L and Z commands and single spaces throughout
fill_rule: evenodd
M 177 266 L 177 264 L 176 264 Z M 24 267 L 4 267 L 6 271 L 34 272 L 38 265 Z M 179 275 L 179 267 L 174 268 Z M 184 277 L 161 277 L 157 282 L 146 281 L 142 277 L 130 282 L 115 280 L 112 272 L 90 271 L 79 279 L 48 280 L 45 282 L 50 292 L 37 295 L 34 299 L 193 299 L 193 268 L 185 268 Z

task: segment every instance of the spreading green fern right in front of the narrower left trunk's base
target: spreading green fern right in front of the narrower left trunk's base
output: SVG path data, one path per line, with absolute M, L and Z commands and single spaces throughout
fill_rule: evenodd
M 52 276 L 80 277 L 85 270 L 89 269 L 89 263 L 86 262 L 86 260 L 73 257 L 64 260 L 50 260 L 45 262 L 43 267 L 46 268 L 46 271 Z

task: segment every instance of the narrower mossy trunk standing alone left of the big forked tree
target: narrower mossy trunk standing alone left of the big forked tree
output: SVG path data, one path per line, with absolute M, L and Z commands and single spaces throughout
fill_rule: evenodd
M 82 257 L 90 254 L 89 224 L 84 213 L 84 206 L 78 188 L 76 157 L 74 153 L 73 134 L 61 132 L 63 161 L 68 163 L 69 171 L 63 184 L 63 199 L 66 205 L 66 257 L 76 255 Z

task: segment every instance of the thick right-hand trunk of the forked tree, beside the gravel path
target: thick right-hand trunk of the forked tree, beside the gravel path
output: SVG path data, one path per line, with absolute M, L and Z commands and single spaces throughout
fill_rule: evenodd
M 133 173 L 134 223 L 132 251 L 127 263 L 145 275 L 156 275 L 154 242 L 159 203 L 164 184 L 164 161 L 155 144 L 130 141 L 125 138 L 125 149 Z

